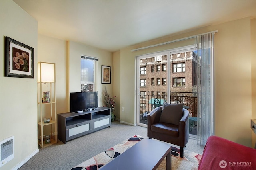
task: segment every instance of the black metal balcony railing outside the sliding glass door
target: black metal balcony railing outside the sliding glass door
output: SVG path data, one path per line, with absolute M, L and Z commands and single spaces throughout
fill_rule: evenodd
M 155 108 L 155 98 L 159 100 L 160 106 L 167 101 L 167 92 L 144 92 L 144 94 L 140 95 L 140 120 L 146 120 L 147 114 Z M 197 117 L 197 93 L 171 92 L 170 96 L 171 103 L 183 103 L 184 108 L 189 111 L 190 117 Z

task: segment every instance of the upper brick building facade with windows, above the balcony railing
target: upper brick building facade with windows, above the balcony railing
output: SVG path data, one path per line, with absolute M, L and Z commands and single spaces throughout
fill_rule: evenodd
M 193 51 L 170 56 L 171 92 L 192 92 L 197 85 Z M 140 60 L 140 92 L 167 92 L 167 55 Z

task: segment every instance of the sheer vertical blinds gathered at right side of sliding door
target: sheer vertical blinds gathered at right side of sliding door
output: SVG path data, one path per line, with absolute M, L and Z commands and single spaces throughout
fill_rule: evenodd
M 198 56 L 198 144 L 214 135 L 214 33 L 196 37 Z

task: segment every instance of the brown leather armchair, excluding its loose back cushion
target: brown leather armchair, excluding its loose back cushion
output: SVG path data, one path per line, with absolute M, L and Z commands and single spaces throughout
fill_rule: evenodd
M 183 158 L 183 148 L 188 143 L 189 112 L 182 109 L 182 117 L 178 125 L 159 122 L 163 106 L 153 109 L 148 114 L 148 138 L 172 143 L 180 146 L 180 157 Z

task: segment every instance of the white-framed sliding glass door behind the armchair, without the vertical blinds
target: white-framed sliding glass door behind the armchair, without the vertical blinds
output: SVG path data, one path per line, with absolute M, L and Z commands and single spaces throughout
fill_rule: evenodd
M 146 127 L 147 114 L 164 102 L 183 103 L 193 118 L 196 135 L 197 56 L 195 45 L 137 58 L 137 124 Z M 192 120 L 192 119 L 191 119 Z

